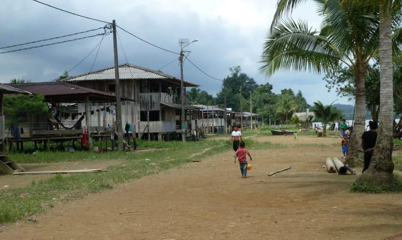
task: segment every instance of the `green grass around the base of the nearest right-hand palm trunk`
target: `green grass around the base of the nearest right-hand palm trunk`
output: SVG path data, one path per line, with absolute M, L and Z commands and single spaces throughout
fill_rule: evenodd
M 372 184 L 363 184 L 354 182 L 349 188 L 349 192 L 367 192 L 367 193 L 381 193 L 381 192 L 402 192 L 402 180 L 394 176 L 390 186 L 378 186 Z

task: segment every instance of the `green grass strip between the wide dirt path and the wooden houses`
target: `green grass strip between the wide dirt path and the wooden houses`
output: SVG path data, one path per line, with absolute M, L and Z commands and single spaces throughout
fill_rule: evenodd
M 127 182 L 149 174 L 158 173 L 169 168 L 230 151 L 231 145 L 226 141 L 198 142 L 141 142 L 144 146 L 162 147 L 158 151 L 146 152 L 108 152 L 94 154 L 90 152 L 44 152 L 36 155 L 19 156 L 21 162 L 58 162 L 93 159 L 121 159 L 120 165 L 110 166 L 107 172 L 74 175 L 56 175 L 46 180 L 32 181 L 24 188 L 3 190 L 0 192 L 0 223 L 14 222 L 25 216 L 53 207 L 57 202 L 65 202 L 85 196 L 91 192 L 111 189 L 116 184 Z M 275 148 L 275 144 L 257 143 L 247 140 L 250 149 Z M 202 154 L 192 156 L 195 153 Z M 18 154 L 13 155 L 13 157 Z

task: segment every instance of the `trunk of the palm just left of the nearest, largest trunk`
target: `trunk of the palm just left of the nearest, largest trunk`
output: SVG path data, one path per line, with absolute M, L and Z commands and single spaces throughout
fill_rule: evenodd
M 366 66 L 362 63 L 356 63 L 356 98 L 355 113 L 353 120 L 353 131 L 349 141 L 348 157 L 346 163 L 354 166 L 359 160 L 363 159 L 363 151 L 361 150 L 361 135 L 366 127 L 366 92 L 364 87 L 364 78 L 366 76 Z

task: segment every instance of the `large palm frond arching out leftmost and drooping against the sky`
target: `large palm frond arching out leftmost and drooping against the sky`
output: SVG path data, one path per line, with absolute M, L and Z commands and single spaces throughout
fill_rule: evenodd
M 260 71 L 268 76 L 280 69 L 328 72 L 338 67 L 342 57 L 339 49 L 306 22 L 287 19 L 269 30 Z

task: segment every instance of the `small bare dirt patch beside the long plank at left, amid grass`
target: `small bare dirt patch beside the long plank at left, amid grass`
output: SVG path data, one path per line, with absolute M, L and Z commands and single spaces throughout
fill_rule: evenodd
M 26 171 L 51 171 L 51 170 L 76 170 L 76 169 L 105 169 L 107 166 L 123 163 L 120 160 L 99 160 L 99 161 L 77 161 L 64 163 L 36 163 L 36 164 L 20 164 Z M 68 174 L 65 174 L 68 175 Z M 40 181 L 48 179 L 54 175 L 0 175 L 0 191 L 21 188 L 32 183 L 33 180 Z M 8 187 L 4 187 L 8 186 Z

